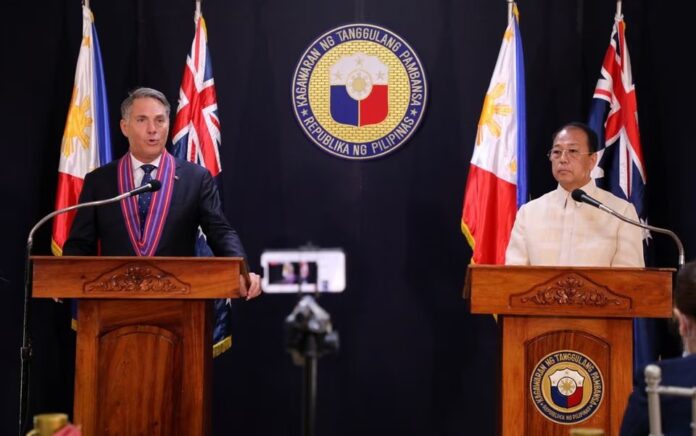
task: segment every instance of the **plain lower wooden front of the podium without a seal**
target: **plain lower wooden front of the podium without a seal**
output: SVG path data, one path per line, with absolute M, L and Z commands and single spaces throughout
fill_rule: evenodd
M 83 434 L 209 434 L 211 313 L 209 300 L 80 301 Z

